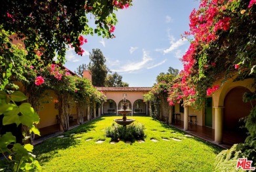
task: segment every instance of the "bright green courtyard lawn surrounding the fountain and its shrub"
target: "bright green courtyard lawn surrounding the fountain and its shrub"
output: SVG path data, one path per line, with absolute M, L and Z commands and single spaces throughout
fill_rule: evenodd
M 102 116 L 35 146 L 43 171 L 213 171 L 220 148 L 150 117 L 128 117 L 144 125 L 144 143 L 110 144 L 104 129 L 116 118 Z

